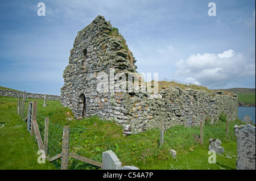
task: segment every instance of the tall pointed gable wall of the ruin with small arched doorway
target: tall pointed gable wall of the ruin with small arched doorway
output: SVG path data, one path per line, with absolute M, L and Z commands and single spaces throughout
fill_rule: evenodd
M 110 68 L 115 73 L 133 72 L 137 68 L 128 60 L 127 49 L 122 45 L 123 37 L 108 36 L 112 29 L 103 16 L 97 16 L 77 33 L 61 88 L 61 104 L 71 108 L 77 118 L 104 115 L 104 110 L 108 109 L 109 92 L 96 90 L 100 81 L 98 74 L 109 74 Z

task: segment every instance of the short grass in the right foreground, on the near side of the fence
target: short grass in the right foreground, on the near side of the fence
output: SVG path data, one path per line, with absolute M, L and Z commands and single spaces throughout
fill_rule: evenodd
M 235 170 L 236 169 L 236 143 L 222 144 L 225 152 L 216 154 L 216 163 L 209 163 L 208 149 L 204 146 L 197 146 L 194 149 L 178 150 L 177 159 L 168 156 L 168 150 L 159 150 L 152 158 L 144 159 L 140 164 L 140 169 L 158 169 L 158 170 Z M 151 156 L 150 156 L 151 157 Z

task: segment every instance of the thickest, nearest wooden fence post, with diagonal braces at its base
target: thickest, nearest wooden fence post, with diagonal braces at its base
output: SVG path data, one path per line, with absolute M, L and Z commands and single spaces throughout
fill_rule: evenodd
M 69 151 L 69 126 L 63 127 L 62 151 L 61 151 L 61 170 L 68 170 L 68 151 Z

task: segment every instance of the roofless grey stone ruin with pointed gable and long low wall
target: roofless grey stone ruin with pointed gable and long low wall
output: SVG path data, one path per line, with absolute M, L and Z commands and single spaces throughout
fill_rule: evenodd
M 64 70 L 60 102 L 76 119 L 97 115 L 115 120 L 131 133 L 154 125 L 196 125 L 218 119 L 224 111 L 237 118 L 237 95 L 170 87 L 144 82 L 125 39 L 104 16 L 77 33 Z M 122 81 L 125 80 L 125 83 Z M 129 86 L 130 85 L 130 86 Z

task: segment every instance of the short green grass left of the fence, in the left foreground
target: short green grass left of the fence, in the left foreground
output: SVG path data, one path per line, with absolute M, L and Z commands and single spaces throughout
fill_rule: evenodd
M 16 102 L 17 98 L 0 96 L 0 169 L 55 169 L 48 161 L 38 163 L 38 145 L 16 113 Z

